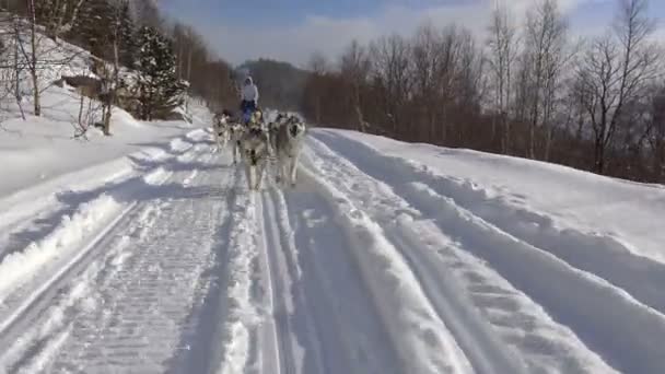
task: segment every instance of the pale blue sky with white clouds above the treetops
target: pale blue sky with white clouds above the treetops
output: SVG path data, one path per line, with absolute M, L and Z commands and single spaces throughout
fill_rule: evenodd
M 174 19 L 195 26 L 232 63 L 271 57 L 303 66 L 314 51 L 337 56 L 353 38 L 409 35 L 422 22 L 457 23 L 482 35 L 494 1 L 523 20 L 535 0 L 159 0 Z M 559 0 L 574 34 L 598 33 L 611 22 L 618 0 Z M 650 14 L 665 20 L 665 0 Z M 658 22 L 665 38 L 665 23 Z

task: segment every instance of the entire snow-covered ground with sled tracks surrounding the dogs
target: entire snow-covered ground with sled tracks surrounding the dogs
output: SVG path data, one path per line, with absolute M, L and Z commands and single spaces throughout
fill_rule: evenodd
M 664 188 L 314 129 L 250 194 L 205 117 L 0 132 L 0 372 L 665 371 Z

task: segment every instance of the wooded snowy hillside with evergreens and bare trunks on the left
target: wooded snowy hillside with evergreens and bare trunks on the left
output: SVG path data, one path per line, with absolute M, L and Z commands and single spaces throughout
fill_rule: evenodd
M 62 81 L 103 103 L 106 133 L 112 105 L 150 120 L 176 116 L 174 109 L 191 97 L 213 110 L 237 101 L 231 65 L 191 26 L 163 17 L 153 1 L 9 0 L 2 5 L 2 96 L 21 104 L 30 95 L 36 116 L 40 93 Z M 71 61 L 88 54 L 94 75 L 68 75 Z

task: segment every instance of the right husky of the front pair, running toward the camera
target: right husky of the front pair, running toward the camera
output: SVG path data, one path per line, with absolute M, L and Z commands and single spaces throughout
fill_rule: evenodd
M 307 127 L 295 116 L 289 116 L 277 129 L 275 137 L 275 151 L 277 155 L 278 177 L 277 183 L 285 184 L 287 179 L 291 186 L 295 186 L 298 162 Z

